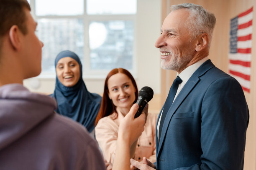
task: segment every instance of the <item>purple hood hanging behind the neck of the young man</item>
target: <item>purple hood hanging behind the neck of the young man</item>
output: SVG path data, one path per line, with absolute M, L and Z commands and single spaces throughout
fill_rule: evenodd
M 56 101 L 21 84 L 0 87 L 0 150 L 54 115 Z

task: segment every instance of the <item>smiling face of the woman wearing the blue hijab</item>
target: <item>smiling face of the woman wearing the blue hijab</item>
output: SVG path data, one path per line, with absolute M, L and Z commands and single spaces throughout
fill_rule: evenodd
M 79 64 L 71 57 L 63 57 L 57 62 L 56 74 L 62 85 L 73 87 L 80 77 Z

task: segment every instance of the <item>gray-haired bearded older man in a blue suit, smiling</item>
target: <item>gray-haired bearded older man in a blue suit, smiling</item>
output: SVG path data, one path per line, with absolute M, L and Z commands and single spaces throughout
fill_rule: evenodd
M 241 85 L 208 58 L 215 22 L 200 5 L 171 7 L 155 46 L 161 67 L 177 71 L 177 78 L 157 122 L 156 163 L 143 158 L 142 163 L 131 160 L 133 166 L 243 169 L 249 111 Z

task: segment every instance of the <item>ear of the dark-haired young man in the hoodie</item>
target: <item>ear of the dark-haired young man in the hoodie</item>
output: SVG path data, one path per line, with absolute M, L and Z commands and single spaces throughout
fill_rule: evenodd
M 20 33 L 21 32 L 17 25 L 13 25 L 10 28 L 10 31 L 9 31 L 10 42 L 15 50 L 20 50 L 20 47 L 21 47 Z

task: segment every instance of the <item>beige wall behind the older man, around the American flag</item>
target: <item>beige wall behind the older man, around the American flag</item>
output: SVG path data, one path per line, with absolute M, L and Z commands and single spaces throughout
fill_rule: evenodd
M 202 5 L 215 14 L 217 23 L 213 32 L 210 49 L 210 59 L 221 70 L 228 72 L 229 28 L 230 19 L 239 13 L 256 7 L 255 0 L 162 0 L 162 21 L 169 13 L 166 5 L 180 3 L 195 3 Z M 166 10 L 167 9 L 167 10 Z M 246 136 L 246 151 L 244 170 L 256 170 L 256 12 L 253 11 L 253 37 L 251 60 L 251 92 L 247 93 L 246 100 L 250 111 L 250 122 Z M 164 103 L 169 87 L 176 76 L 174 71 L 161 70 L 161 104 Z

